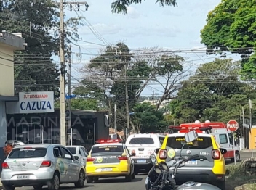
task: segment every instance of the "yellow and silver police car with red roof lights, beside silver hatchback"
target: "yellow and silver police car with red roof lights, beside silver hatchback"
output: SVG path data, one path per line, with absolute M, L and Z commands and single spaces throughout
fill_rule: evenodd
M 135 178 L 135 164 L 125 144 L 116 140 L 101 140 L 92 146 L 87 157 L 87 183 L 99 178 L 124 176 L 127 182 Z

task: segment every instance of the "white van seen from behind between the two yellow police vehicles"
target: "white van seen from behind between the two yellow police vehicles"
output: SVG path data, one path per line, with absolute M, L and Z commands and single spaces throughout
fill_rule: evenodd
M 130 154 L 135 153 L 132 160 L 135 161 L 135 174 L 148 173 L 152 168 L 150 155 L 154 153 L 155 149 L 161 148 L 161 144 L 164 141 L 165 136 L 144 133 L 144 134 L 132 134 L 128 136 L 125 145 L 129 149 Z

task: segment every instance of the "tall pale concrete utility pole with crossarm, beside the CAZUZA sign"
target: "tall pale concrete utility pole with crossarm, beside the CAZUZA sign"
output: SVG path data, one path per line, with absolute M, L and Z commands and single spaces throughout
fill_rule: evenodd
M 72 5 L 76 5 L 79 9 L 80 4 L 85 4 L 88 9 L 87 2 L 64 2 L 60 0 L 60 144 L 66 145 L 66 125 L 65 125 L 65 46 L 64 46 L 64 4 L 69 4 L 72 10 Z

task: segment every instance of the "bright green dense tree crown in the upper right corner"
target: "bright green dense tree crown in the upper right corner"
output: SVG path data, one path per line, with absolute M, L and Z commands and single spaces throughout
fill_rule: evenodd
M 208 13 L 207 25 L 201 30 L 207 54 L 241 54 L 241 74 L 245 78 L 256 78 L 256 56 L 252 54 L 256 45 L 255 11 L 255 1 L 222 0 Z

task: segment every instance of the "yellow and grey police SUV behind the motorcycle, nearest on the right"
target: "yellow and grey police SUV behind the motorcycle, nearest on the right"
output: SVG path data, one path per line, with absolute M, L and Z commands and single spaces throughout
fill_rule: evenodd
M 189 130 L 188 130 L 189 131 Z M 188 132 L 187 131 L 187 132 Z M 168 134 L 160 149 L 156 149 L 159 162 L 167 162 L 172 166 L 175 157 L 199 154 L 199 158 L 185 163 L 177 170 L 175 180 L 177 185 L 187 181 L 196 181 L 199 183 L 210 183 L 220 189 L 225 189 L 225 159 L 223 154 L 227 152 L 220 149 L 214 136 L 207 133 L 198 132 L 198 138 L 188 144 L 185 143 L 186 131 L 180 133 Z M 180 152 L 180 150 L 183 150 Z M 171 167 L 171 170 L 174 168 Z

